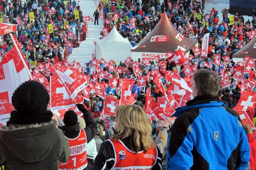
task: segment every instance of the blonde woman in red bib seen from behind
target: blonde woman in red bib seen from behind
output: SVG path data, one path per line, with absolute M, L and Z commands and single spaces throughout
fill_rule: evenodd
M 145 111 L 137 105 L 116 107 L 116 131 L 103 142 L 94 169 L 162 169 Z

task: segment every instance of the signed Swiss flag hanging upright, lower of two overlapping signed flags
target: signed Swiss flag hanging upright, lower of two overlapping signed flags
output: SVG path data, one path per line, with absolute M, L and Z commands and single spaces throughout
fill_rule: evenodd
M 63 83 L 61 82 L 58 75 L 51 76 L 51 101 L 50 106 L 52 107 L 52 110 L 59 110 L 59 109 L 67 109 L 74 107 L 76 102 L 82 103 L 84 101 L 84 98 L 80 93 L 77 94 L 74 101 L 70 97 L 70 92 L 67 91 Z

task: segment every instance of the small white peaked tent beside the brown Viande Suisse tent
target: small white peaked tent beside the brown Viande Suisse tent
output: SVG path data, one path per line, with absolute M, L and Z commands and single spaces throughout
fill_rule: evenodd
M 96 59 L 104 58 L 107 62 L 110 60 L 123 61 L 131 56 L 132 45 L 128 39 L 122 37 L 113 27 L 111 32 L 104 39 L 96 40 Z

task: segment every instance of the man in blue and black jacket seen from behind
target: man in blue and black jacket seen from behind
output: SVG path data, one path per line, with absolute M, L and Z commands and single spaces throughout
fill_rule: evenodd
M 206 69 L 193 75 L 193 100 L 178 108 L 166 169 L 246 169 L 250 147 L 236 111 L 220 101 L 220 78 Z

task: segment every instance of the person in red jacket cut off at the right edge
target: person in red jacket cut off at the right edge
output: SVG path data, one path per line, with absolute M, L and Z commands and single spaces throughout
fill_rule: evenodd
M 252 127 L 249 124 L 246 124 L 244 126 L 244 130 L 247 134 L 247 138 L 248 138 L 248 142 L 250 145 L 250 166 L 251 166 L 251 170 L 255 170 L 256 169 L 256 139 L 254 137 L 254 135 L 252 134 Z

